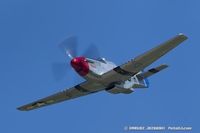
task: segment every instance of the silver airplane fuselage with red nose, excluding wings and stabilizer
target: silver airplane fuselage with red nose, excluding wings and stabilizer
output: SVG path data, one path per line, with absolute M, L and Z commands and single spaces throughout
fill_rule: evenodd
M 101 75 L 117 67 L 116 64 L 111 61 L 107 61 L 105 58 L 90 59 L 82 56 L 73 58 L 71 60 L 71 66 L 80 76 L 86 80 L 94 81 L 97 83 L 100 83 Z M 146 81 L 139 81 L 136 75 L 125 82 L 116 83 L 114 85 L 123 89 L 133 89 L 134 86 L 138 87 L 138 85 L 141 87 L 147 87 Z

